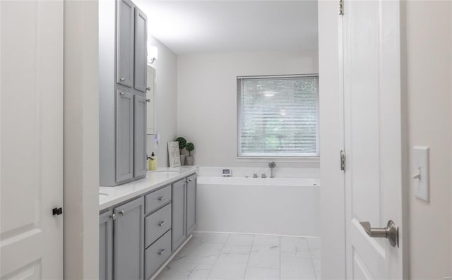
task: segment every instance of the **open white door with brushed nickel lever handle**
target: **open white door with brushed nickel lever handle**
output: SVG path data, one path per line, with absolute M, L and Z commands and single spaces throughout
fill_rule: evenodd
M 403 279 L 398 1 L 345 1 L 343 16 L 347 279 Z M 361 222 L 393 220 L 399 247 Z M 382 232 L 384 233 L 384 231 Z

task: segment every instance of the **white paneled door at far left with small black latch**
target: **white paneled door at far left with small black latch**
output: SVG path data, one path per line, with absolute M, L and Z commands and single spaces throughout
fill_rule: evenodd
M 0 18 L 0 277 L 63 279 L 63 2 L 0 1 Z

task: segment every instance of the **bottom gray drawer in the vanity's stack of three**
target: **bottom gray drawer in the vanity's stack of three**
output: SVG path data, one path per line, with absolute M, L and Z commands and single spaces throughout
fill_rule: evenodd
M 171 231 L 167 231 L 144 252 L 144 275 L 149 279 L 171 255 Z

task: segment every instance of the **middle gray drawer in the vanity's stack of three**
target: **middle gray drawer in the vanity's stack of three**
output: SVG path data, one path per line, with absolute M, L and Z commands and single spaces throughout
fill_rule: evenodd
M 171 229 L 171 203 L 145 218 L 144 248 Z

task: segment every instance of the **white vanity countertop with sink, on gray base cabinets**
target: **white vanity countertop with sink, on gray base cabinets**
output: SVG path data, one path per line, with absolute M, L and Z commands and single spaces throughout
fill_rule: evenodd
M 197 170 L 198 166 L 159 167 L 156 171 L 148 171 L 146 178 L 116 187 L 99 187 L 99 211 L 182 179 Z

